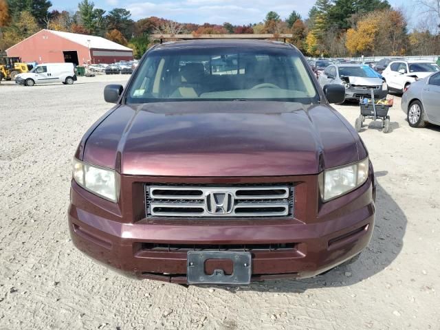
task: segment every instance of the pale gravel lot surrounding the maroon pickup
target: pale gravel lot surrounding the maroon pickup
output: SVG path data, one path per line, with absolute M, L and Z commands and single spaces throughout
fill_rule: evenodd
M 323 276 L 248 287 L 132 281 L 78 252 L 67 230 L 72 156 L 111 106 L 104 85 L 0 85 L 0 329 L 440 329 L 440 129 L 361 136 L 377 182 L 373 240 Z M 355 104 L 336 106 L 354 124 Z

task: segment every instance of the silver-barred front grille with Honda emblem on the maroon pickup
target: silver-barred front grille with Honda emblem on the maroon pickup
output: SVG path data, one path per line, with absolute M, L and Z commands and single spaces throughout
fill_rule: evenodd
M 293 203 L 292 184 L 145 185 L 146 217 L 286 217 Z

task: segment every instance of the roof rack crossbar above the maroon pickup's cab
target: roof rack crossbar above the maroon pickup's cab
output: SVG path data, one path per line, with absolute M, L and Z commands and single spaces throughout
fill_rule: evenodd
M 286 39 L 292 38 L 293 34 L 152 34 L 151 37 L 159 39 L 160 43 L 163 43 L 165 39 L 283 39 L 286 42 Z

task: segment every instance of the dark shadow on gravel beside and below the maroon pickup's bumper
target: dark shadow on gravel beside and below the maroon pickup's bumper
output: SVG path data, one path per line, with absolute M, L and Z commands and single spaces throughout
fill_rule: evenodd
M 321 287 L 345 287 L 366 280 L 386 269 L 401 252 L 406 230 L 406 216 L 386 190 L 377 184 L 376 218 L 373 238 L 360 259 L 342 265 L 326 274 L 301 280 L 283 279 L 255 282 L 248 286 L 229 287 L 230 292 L 285 292 L 301 293 Z M 225 289 L 225 287 L 217 287 Z

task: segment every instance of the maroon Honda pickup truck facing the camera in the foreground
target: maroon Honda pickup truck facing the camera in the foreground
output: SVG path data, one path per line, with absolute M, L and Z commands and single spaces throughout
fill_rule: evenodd
M 152 47 L 74 157 L 76 247 L 135 278 L 305 278 L 369 244 L 375 180 L 358 133 L 292 45 Z

